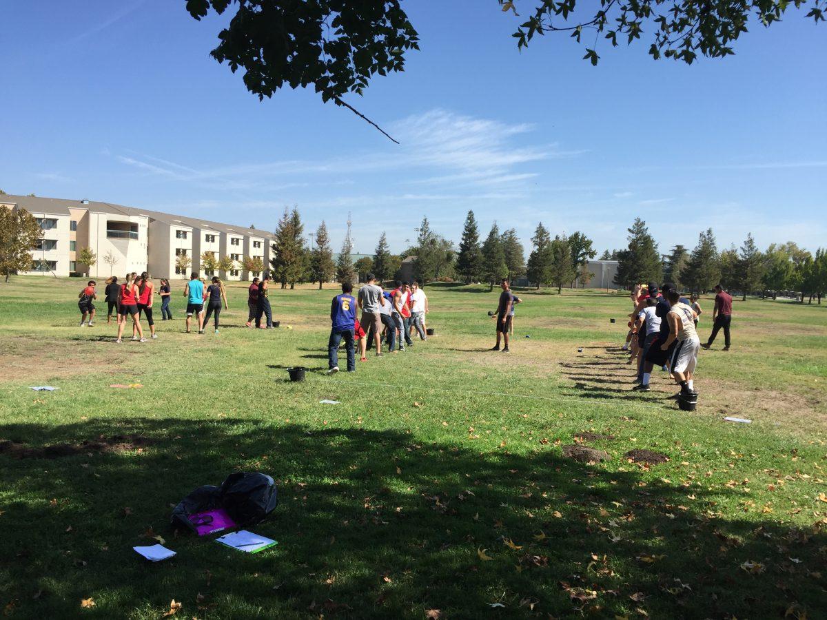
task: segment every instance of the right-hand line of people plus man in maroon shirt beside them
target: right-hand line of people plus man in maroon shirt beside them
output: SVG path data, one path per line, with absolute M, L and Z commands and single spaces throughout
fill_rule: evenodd
M 635 364 L 637 376 L 633 387 L 637 392 L 648 392 L 652 371 L 657 366 L 668 371 L 681 393 L 697 395 L 695 371 L 698 351 L 703 346 L 709 349 L 719 329 L 724 328 L 726 346 L 729 351 L 729 324 L 732 320 L 732 297 L 724 289 L 715 286 L 715 327 L 710 339 L 700 344 L 697 332 L 698 317 L 703 313 L 696 295 L 686 298 L 674 284 L 639 284 L 632 293 L 634 310 L 629 316 L 629 334 L 623 350 L 629 351 L 629 364 Z

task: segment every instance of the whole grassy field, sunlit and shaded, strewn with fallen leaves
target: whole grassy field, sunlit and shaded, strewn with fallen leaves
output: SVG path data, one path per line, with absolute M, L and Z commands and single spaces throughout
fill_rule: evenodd
M 293 329 L 255 331 L 233 284 L 218 336 L 184 334 L 176 294 L 157 340 L 117 346 L 105 317 L 78 327 L 81 284 L 0 284 L 9 617 L 160 618 L 173 599 L 175 618 L 827 613 L 827 308 L 736 301 L 733 350 L 721 335 L 701 351 L 683 413 L 665 373 L 629 391 L 615 293 L 519 291 L 502 354 L 486 351 L 498 292 L 433 285 L 433 338 L 328 377 L 333 289 L 275 290 Z M 611 458 L 582 464 L 569 445 Z M 278 508 L 252 528 L 275 550 L 175 537 L 174 504 L 235 470 L 277 479 Z M 178 556 L 132 551 L 155 536 Z

